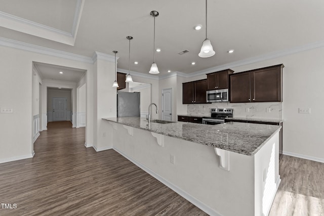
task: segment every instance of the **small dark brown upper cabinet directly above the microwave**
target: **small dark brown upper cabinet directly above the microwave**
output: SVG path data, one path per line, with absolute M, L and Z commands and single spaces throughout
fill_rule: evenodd
M 228 89 L 228 75 L 233 72 L 227 69 L 207 74 L 207 90 Z

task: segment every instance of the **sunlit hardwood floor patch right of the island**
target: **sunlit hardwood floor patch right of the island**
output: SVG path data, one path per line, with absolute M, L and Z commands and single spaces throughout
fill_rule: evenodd
M 284 155 L 270 216 L 324 216 L 324 163 Z

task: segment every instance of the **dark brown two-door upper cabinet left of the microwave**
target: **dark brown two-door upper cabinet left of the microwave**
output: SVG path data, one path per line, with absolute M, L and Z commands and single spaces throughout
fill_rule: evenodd
M 182 83 L 183 104 L 206 104 L 207 79 Z

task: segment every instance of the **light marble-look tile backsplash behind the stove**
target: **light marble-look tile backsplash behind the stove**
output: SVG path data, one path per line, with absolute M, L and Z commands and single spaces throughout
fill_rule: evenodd
M 187 114 L 211 115 L 212 108 L 232 108 L 233 117 L 282 119 L 282 102 L 189 104 Z

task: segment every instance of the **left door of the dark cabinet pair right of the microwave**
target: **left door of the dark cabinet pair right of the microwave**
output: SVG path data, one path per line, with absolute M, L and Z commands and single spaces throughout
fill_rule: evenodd
M 229 76 L 230 102 L 250 102 L 251 73 L 237 73 Z

